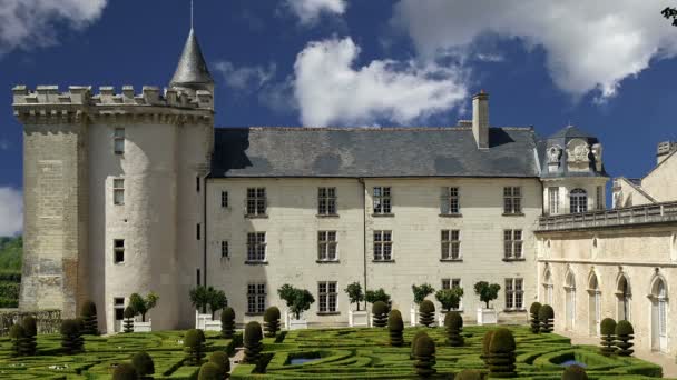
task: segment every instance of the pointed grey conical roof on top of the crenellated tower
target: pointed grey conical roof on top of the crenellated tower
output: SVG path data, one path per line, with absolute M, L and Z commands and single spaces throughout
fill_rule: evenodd
M 203 57 L 195 31 L 190 29 L 190 34 L 188 34 L 184 52 L 169 86 L 205 89 L 205 86 L 209 84 L 214 84 L 214 79 Z

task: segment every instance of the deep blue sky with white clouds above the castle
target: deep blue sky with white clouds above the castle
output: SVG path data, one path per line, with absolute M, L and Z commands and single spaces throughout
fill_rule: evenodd
M 166 86 L 188 0 L 3 1 L 0 236 L 20 228 L 21 126 L 10 89 Z M 196 0 L 216 124 L 454 126 L 490 93 L 492 126 L 599 137 L 612 176 L 676 140 L 671 1 Z M 4 220 L 4 222 L 2 221 Z M 9 222 L 8 222 L 9 221 Z

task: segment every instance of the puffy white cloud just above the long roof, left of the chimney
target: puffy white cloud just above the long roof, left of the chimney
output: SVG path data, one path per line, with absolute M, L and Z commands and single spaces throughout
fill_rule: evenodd
M 448 112 L 464 100 L 462 72 L 434 63 L 375 60 L 353 68 L 360 48 L 352 39 L 311 42 L 297 56 L 294 93 L 305 126 L 404 124 Z

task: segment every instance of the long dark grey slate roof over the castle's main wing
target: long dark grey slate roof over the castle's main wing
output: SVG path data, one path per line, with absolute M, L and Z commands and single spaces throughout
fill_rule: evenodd
M 217 128 L 213 178 L 538 178 L 532 128 Z

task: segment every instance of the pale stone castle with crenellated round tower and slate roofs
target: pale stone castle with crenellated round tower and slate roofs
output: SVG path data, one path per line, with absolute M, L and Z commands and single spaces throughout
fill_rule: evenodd
M 651 318 L 642 308 L 673 308 L 656 288 L 677 268 L 673 144 L 660 148 L 659 174 L 615 181 L 627 219 L 606 210 L 596 137 L 490 127 L 483 91 L 472 120 L 443 128 L 215 128 L 213 97 L 193 30 L 163 91 L 13 89 L 24 126 L 22 309 L 73 317 L 91 299 L 114 332 L 129 294 L 153 291 L 154 329 L 186 328 L 188 292 L 207 284 L 245 322 L 282 307 L 276 290 L 290 283 L 315 296 L 311 324 L 341 326 L 354 308 L 347 284 L 383 288 L 409 310 L 411 286 L 428 282 L 464 288 L 460 311 L 472 320 L 478 281 L 501 286 L 501 320 L 526 320 L 540 300 L 558 311 L 556 328 L 575 332 L 597 333 L 604 316 L 641 324 Z M 638 207 L 659 214 L 640 222 Z M 654 256 L 637 258 L 646 241 Z M 644 290 L 630 316 L 611 279 L 634 271 Z M 653 274 L 650 286 L 639 280 Z M 588 280 L 588 294 L 573 277 Z M 650 287 L 656 297 L 642 299 Z M 677 334 L 650 323 L 658 340 Z

